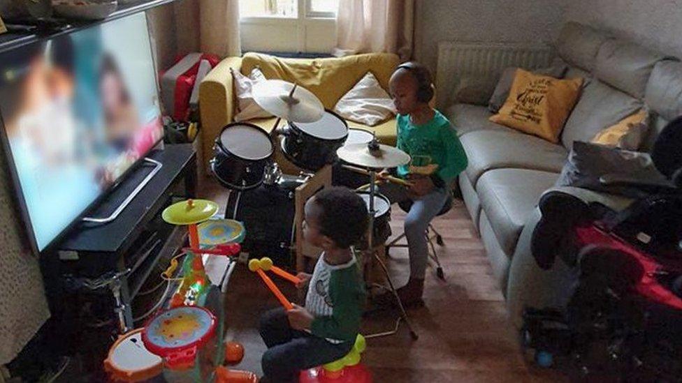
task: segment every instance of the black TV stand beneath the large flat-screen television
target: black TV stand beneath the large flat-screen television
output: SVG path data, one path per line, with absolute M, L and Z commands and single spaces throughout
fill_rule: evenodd
M 129 199 L 141 181 L 149 179 L 117 218 L 104 224 L 79 223 L 57 246 L 59 250 L 41 258 L 53 317 L 73 316 L 60 313 L 65 310 L 64 296 L 108 290 L 115 298 L 119 331 L 132 329 L 135 295 L 159 260 L 182 246 L 187 236 L 184 228 L 168 225 L 160 216 L 176 200 L 194 197 L 196 153 L 191 144 L 173 144 L 150 152 L 148 157 L 162 165 L 153 177 L 149 177 L 150 167 L 138 166 L 89 211 L 92 216 L 108 215 Z

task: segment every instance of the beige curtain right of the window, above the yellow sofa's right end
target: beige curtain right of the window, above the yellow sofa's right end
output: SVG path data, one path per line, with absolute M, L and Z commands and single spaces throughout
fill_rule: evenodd
M 412 56 L 414 0 L 340 0 L 335 56 L 391 52 Z

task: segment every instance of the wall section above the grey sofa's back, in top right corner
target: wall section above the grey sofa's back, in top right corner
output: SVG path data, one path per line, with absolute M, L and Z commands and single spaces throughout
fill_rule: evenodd
M 565 19 L 682 57 L 682 0 L 573 0 Z

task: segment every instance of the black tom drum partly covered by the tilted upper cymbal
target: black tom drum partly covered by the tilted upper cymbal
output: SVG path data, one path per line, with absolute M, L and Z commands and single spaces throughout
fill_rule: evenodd
M 335 162 L 336 149 L 348 137 L 348 124 L 338 114 L 325 110 L 319 121 L 289 122 L 282 136 L 282 152 L 286 159 L 314 172 Z

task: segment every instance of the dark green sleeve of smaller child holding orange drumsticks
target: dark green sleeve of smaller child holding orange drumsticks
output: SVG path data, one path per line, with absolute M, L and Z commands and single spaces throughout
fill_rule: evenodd
M 340 340 L 355 340 L 360 331 L 365 293 L 355 267 L 332 271 L 329 295 L 332 315 L 315 317 L 310 326 L 314 336 Z

